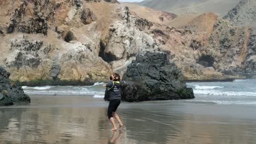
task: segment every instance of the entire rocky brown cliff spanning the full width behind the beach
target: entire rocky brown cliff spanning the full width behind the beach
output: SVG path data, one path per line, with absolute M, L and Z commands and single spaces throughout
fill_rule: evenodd
M 256 75 L 253 29 L 213 13 L 177 29 L 117 1 L 0 2 L 0 64 L 10 79 L 107 80 L 146 50 L 170 53 L 185 79 Z

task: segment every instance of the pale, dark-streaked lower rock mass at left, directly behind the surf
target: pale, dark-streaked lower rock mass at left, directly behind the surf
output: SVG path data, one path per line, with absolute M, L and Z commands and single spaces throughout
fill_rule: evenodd
M 8 49 L 3 50 L 3 53 L 8 55 L 0 59 L 5 68 L 13 74 L 10 77 L 12 80 L 103 81 L 112 73 L 109 64 L 92 53 L 90 45 L 62 42 L 55 46 L 42 36 L 36 38 L 28 35 L 6 39 L 1 45 L 8 43 Z

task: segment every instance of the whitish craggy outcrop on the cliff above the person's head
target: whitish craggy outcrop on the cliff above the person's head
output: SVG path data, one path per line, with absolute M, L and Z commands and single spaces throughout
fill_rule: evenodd
M 146 24 L 136 27 L 139 21 L 124 5 L 119 5 L 115 13 L 121 20 L 110 24 L 107 40 L 101 43 L 99 56 L 109 62 L 115 72 L 123 74 L 138 53 L 160 48 L 155 39 L 143 31 L 152 25 L 151 22 L 142 20 L 141 23 Z

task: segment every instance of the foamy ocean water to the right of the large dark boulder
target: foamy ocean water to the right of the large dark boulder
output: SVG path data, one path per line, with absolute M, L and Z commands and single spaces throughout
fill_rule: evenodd
M 256 105 L 256 79 L 234 82 L 191 82 L 195 99 L 190 103 Z

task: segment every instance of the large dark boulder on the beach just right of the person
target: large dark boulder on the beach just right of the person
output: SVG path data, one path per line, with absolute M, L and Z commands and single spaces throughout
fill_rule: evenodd
M 165 52 L 138 55 L 127 67 L 122 88 L 125 101 L 192 99 L 193 89 L 187 88 L 181 70 L 169 61 Z

